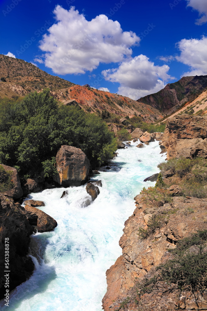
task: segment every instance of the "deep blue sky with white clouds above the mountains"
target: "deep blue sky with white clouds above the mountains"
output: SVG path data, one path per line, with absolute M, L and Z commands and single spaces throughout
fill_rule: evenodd
M 1 0 L 0 14 L 0 53 L 76 84 L 138 99 L 207 74 L 207 0 Z

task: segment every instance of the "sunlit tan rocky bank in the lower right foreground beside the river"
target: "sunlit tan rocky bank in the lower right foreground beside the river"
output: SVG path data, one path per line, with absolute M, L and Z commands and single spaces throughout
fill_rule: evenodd
M 128 311 L 206 310 L 205 288 L 202 293 L 199 290 L 193 293 L 189 288 L 180 290 L 176 284 L 155 281 L 155 286 L 149 287 L 146 292 L 138 289 L 142 288 L 143 280 L 157 275 L 159 264 L 174 258 L 169 249 L 176 248 L 178 240 L 191 236 L 197 230 L 207 229 L 207 199 L 173 197 L 173 202 L 160 207 L 142 203 L 142 194 L 137 195 L 135 200 L 136 209 L 125 222 L 124 234 L 119 241 L 122 256 L 106 272 L 108 286 L 102 300 L 103 309 L 122 310 L 124 304 L 123 310 Z M 184 213 L 189 209 L 193 210 L 193 214 Z M 139 228 L 147 228 L 152 215 L 161 217 L 162 225 L 142 240 L 137 233 Z

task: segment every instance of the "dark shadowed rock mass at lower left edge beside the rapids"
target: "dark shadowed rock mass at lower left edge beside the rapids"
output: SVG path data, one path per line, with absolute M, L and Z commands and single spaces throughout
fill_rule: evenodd
M 24 208 L 11 197 L 0 194 L 0 299 L 5 291 L 5 238 L 9 239 L 9 291 L 25 282 L 32 275 L 34 263 L 28 257 L 32 227 Z

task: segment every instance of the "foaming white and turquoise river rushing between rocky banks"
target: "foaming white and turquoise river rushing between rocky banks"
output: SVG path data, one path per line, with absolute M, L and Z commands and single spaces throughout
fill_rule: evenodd
M 143 182 L 157 173 L 164 161 L 158 142 L 145 148 L 131 142 L 119 149 L 118 156 L 101 169 L 93 180 L 101 180 L 97 199 L 84 207 L 89 198 L 86 185 L 47 189 L 27 199 L 42 200 L 41 209 L 57 221 L 52 232 L 31 238 L 30 256 L 35 271 L 28 281 L 10 293 L 10 311 L 101 311 L 106 293 L 106 270 L 121 255 L 119 239 L 124 222 L 132 215 L 133 198 L 145 186 Z M 68 196 L 61 198 L 64 190 Z M 0 303 L 1 310 L 8 307 Z

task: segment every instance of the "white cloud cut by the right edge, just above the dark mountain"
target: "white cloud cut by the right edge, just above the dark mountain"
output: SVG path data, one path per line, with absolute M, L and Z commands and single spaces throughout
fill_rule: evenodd
M 176 59 L 190 66 L 190 71 L 183 76 L 207 75 L 207 37 L 201 39 L 182 39 L 178 42 L 180 56 Z

